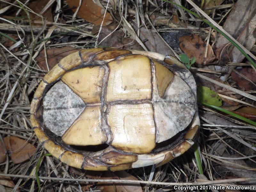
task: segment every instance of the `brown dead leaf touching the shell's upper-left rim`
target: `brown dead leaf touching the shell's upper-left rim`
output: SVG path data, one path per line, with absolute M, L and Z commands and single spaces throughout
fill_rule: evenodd
M 47 54 L 47 61 L 48 61 L 48 67 L 49 70 L 51 70 L 54 65 L 56 65 L 63 57 L 68 56 L 69 54 L 79 51 L 79 49 L 76 49 L 74 47 L 66 46 L 66 47 L 61 47 L 57 49 L 47 49 L 46 54 Z M 45 54 L 44 50 L 42 50 L 39 55 L 36 57 L 36 61 L 38 62 L 38 66 L 43 69 L 43 70 L 48 70 L 46 61 L 45 61 Z

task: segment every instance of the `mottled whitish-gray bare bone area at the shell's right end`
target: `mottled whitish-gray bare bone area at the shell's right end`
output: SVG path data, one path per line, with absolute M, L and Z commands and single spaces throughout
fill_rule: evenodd
M 174 76 L 163 99 L 162 102 L 154 103 L 157 143 L 168 140 L 184 130 L 196 112 L 194 94 L 178 76 Z

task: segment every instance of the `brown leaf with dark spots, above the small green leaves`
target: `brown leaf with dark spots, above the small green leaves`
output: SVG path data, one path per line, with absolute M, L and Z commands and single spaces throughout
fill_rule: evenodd
M 204 65 L 204 52 L 205 52 L 205 42 L 198 35 L 182 36 L 180 37 L 180 49 L 184 51 L 190 59 L 196 57 L 196 63 Z M 211 61 L 215 60 L 215 55 L 213 53 L 212 47 L 208 45 L 207 57 L 205 64 L 209 64 Z

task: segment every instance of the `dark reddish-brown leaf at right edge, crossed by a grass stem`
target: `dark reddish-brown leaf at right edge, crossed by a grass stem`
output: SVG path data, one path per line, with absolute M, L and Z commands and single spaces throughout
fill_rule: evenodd
M 246 67 L 242 69 L 236 69 L 236 71 L 252 80 L 252 82 L 256 83 L 256 72 L 253 68 Z M 252 90 L 256 88 L 254 84 L 252 84 L 250 81 L 247 81 L 244 77 L 237 74 L 235 71 L 231 73 L 231 76 L 237 85 L 241 88 L 244 88 L 245 90 Z

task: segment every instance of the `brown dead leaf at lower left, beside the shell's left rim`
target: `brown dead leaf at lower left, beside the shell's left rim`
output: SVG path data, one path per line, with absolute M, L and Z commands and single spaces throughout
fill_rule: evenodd
M 26 140 L 15 136 L 4 138 L 6 149 L 11 153 L 11 159 L 14 164 L 21 163 L 29 159 L 36 151 L 36 148 Z

